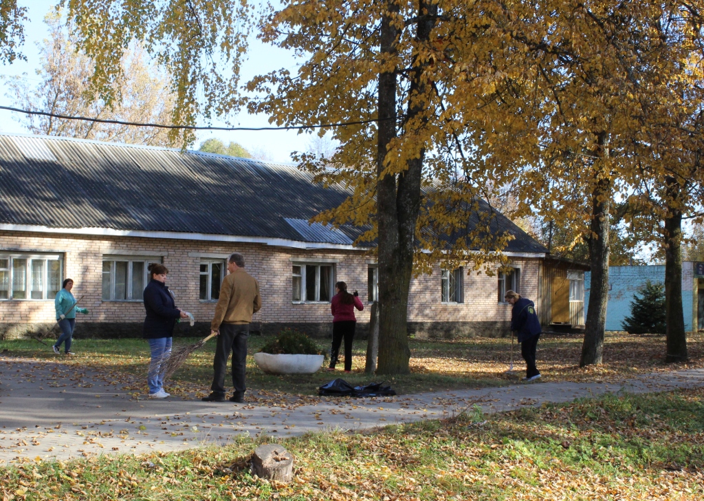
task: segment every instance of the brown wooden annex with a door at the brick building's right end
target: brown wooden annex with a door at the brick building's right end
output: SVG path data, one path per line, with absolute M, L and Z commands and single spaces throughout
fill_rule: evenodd
M 539 268 L 538 301 L 540 323 L 553 328 L 584 326 L 584 272 L 589 265 L 547 256 Z

